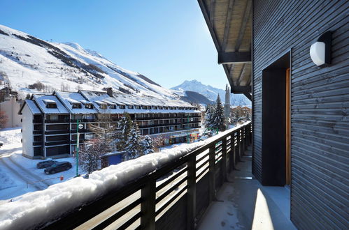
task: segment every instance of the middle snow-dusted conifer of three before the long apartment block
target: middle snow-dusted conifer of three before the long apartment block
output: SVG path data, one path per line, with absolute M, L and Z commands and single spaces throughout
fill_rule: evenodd
M 126 154 L 124 155 L 124 160 L 131 160 L 138 158 L 143 155 L 143 146 L 141 144 L 142 139 L 139 133 L 137 123 L 133 123 L 131 130 L 129 130 L 129 135 L 127 135 L 127 141 L 125 143 L 124 150 Z

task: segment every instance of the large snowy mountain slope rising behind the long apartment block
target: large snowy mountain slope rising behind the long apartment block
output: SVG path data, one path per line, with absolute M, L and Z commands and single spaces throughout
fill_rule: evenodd
M 0 25 L 0 82 L 24 93 L 102 90 L 180 99 L 138 72 L 125 70 L 77 43 L 50 43 Z M 41 82 L 40 87 L 34 83 Z

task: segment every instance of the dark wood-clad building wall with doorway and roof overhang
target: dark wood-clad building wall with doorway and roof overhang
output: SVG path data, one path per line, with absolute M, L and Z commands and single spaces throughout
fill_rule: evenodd
M 252 100 L 255 178 L 290 187 L 297 228 L 348 229 L 349 1 L 198 1 L 232 93 Z

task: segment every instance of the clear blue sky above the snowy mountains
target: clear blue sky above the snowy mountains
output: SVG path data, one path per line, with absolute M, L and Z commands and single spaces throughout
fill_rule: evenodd
M 0 1 L 0 24 L 75 42 L 166 88 L 227 84 L 197 0 Z

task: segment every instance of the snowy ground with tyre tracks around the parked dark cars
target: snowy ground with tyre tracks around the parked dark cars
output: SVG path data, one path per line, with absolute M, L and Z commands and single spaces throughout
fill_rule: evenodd
M 67 181 L 76 176 L 74 158 L 62 158 L 58 161 L 69 161 L 73 168 L 57 174 L 44 174 L 43 169 L 36 169 L 36 164 L 42 160 L 31 160 L 22 156 L 21 128 L 0 130 L 0 204 L 8 199 L 20 199 L 22 194 L 43 190 L 49 185 L 62 183 L 59 177 Z M 79 169 L 79 173 L 81 173 Z

